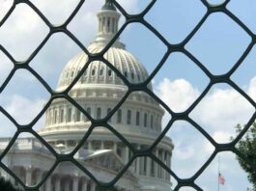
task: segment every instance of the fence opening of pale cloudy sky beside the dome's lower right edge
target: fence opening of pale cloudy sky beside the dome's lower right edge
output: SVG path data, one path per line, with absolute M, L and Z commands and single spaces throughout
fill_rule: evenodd
M 171 169 L 178 177 L 192 177 L 213 154 L 211 142 L 190 123 L 176 121 L 166 135 L 172 138 L 175 147 L 171 156 Z M 164 146 L 164 140 L 159 142 L 160 145 Z M 159 157 L 162 162 L 166 161 L 165 155 Z

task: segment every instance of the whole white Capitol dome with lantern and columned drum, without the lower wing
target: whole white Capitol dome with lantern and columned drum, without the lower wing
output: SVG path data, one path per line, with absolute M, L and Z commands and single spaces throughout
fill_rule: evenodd
M 87 48 L 91 53 L 99 53 L 116 35 L 120 14 L 114 5 L 106 0 L 98 18 L 97 37 Z M 104 54 L 104 58 L 132 84 L 142 83 L 148 78 L 146 68 L 126 50 L 125 44 L 119 39 Z M 60 75 L 57 91 L 64 91 L 87 61 L 88 56 L 84 52 L 74 56 Z M 153 91 L 152 84 L 148 84 L 148 87 Z M 101 61 L 93 61 L 71 88 L 69 95 L 92 119 L 101 120 L 116 107 L 127 92 L 128 86 L 111 68 Z M 107 123 L 121 133 L 134 148 L 147 149 L 162 131 L 163 115 L 163 109 L 153 97 L 144 92 L 133 92 Z M 57 98 L 47 108 L 45 126 L 39 134 L 53 148 L 61 145 L 65 149 L 71 149 L 79 144 L 90 126 L 90 119 L 71 102 L 65 98 Z M 82 148 L 90 152 L 113 150 L 124 164 L 131 155 L 121 140 L 107 128 L 100 126 L 94 128 Z M 173 148 L 171 139 L 165 136 L 155 149 L 156 156 L 168 167 Z M 130 171 L 138 178 L 136 181 L 140 187 L 133 190 L 170 190 L 170 175 L 154 164 L 152 159 L 145 158 L 138 158 L 131 165 Z

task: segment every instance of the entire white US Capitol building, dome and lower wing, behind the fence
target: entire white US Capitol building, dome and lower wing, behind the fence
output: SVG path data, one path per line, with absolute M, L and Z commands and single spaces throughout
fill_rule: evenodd
M 99 30 L 96 40 L 88 50 L 98 53 L 118 31 L 120 14 L 112 3 L 106 3 L 98 13 Z M 147 70 L 117 40 L 104 57 L 131 83 L 143 82 Z M 57 91 L 65 90 L 84 67 L 88 57 L 78 53 L 63 69 Z M 152 90 L 152 85 L 149 85 Z M 128 90 L 123 81 L 100 61 L 92 62 L 79 81 L 71 89 L 71 97 L 94 119 L 104 118 Z M 135 92 L 108 121 L 131 143 L 135 149 L 151 146 L 161 132 L 163 109 L 150 95 Z M 38 131 L 43 139 L 59 153 L 69 153 L 84 136 L 91 125 L 82 113 L 64 99 L 54 99 L 45 114 L 45 126 Z M 4 150 L 9 138 L 0 139 L 0 150 Z M 157 145 L 154 153 L 170 167 L 174 146 L 168 137 Z M 85 144 L 74 158 L 100 181 L 110 181 L 128 163 L 132 152 L 105 127 L 94 128 Z M 3 163 L 26 185 L 39 183 L 55 162 L 55 157 L 35 138 L 18 138 L 4 157 Z M 11 178 L 3 170 L 1 177 Z M 14 182 L 16 183 L 16 182 Z M 170 175 L 149 157 L 136 158 L 128 171 L 115 184 L 120 191 L 170 191 Z M 98 191 L 96 183 L 71 162 L 62 162 L 43 183 L 42 191 Z

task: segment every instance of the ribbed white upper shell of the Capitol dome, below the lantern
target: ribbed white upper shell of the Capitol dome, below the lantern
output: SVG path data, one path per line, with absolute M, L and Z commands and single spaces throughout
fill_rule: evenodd
M 91 53 L 99 53 L 104 48 L 104 44 L 95 41 L 90 44 L 88 50 Z M 148 78 L 147 70 L 142 64 L 126 49 L 125 46 L 117 41 L 104 54 L 104 58 L 117 68 L 123 76 L 127 77 L 130 83 L 141 83 Z M 61 91 L 67 88 L 73 78 L 79 73 L 88 61 L 88 56 L 80 52 L 74 56 L 63 69 L 59 79 L 57 90 Z M 124 84 L 121 78 L 104 63 L 100 61 L 92 62 L 86 69 L 77 84 Z M 149 86 L 152 87 L 151 85 Z

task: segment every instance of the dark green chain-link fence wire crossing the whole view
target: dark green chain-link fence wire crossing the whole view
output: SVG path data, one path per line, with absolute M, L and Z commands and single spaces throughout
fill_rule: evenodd
M 2 114 L 4 114 L 14 125 L 16 126 L 16 132 L 14 134 L 14 137 L 12 138 L 12 141 L 9 143 L 8 147 L 6 150 L 4 150 L 1 153 L 0 156 L 0 167 L 3 168 L 8 174 L 10 174 L 14 179 L 25 189 L 25 190 L 39 190 L 40 187 L 43 185 L 47 177 L 51 175 L 51 173 L 54 171 L 54 169 L 57 167 L 57 165 L 60 162 L 63 161 L 70 161 L 73 163 L 76 167 L 78 167 L 80 170 L 82 170 L 87 176 L 91 177 L 99 186 L 100 190 L 115 190 L 114 185 L 115 183 L 121 178 L 126 171 L 128 170 L 129 166 L 131 163 L 135 160 L 135 158 L 140 157 L 140 156 L 148 156 L 151 157 L 158 165 L 160 165 L 166 172 L 168 172 L 173 178 L 175 178 L 178 182 L 177 186 L 174 188 L 174 190 L 179 190 L 183 186 L 190 186 L 193 187 L 196 190 L 202 190 L 196 183 L 195 179 L 199 177 L 204 170 L 209 166 L 209 164 L 213 161 L 214 156 L 220 152 L 220 151 L 233 151 L 236 153 L 239 157 L 241 157 L 244 161 L 246 161 L 249 165 L 250 160 L 248 160 L 247 156 L 243 155 L 239 150 L 235 148 L 235 145 L 242 139 L 242 136 L 248 128 L 251 126 L 251 124 L 255 121 L 256 113 L 253 114 L 253 116 L 250 118 L 249 122 L 245 124 L 244 128 L 242 129 L 242 132 L 230 143 L 228 144 L 218 144 L 216 143 L 213 138 L 204 130 L 202 126 L 200 126 L 198 123 L 195 123 L 191 118 L 189 118 L 189 113 L 197 106 L 197 104 L 202 100 L 202 98 L 207 95 L 207 93 L 210 91 L 211 87 L 213 87 L 214 84 L 217 83 L 226 83 L 233 87 L 235 90 L 237 90 L 244 98 L 246 98 L 251 105 L 256 108 L 256 103 L 252 100 L 252 98 L 248 95 L 246 95 L 242 89 L 235 84 L 231 80 L 231 75 L 236 71 L 237 68 L 239 68 L 242 65 L 242 61 L 246 58 L 248 55 L 249 51 L 252 49 L 253 45 L 256 42 L 256 36 L 253 34 L 253 32 L 234 14 L 232 14 L 229 10 L 226 9 L 227 4 L 230 2 L 229 0 L 226 0 L 224 3 L 220 5 L 212 5 L 206 0 L 201 0 L 203 5 L 207 8 L 206 14 L 201 18 L 201 20 L 198 22 L 198 24 L 192 29 L 192 31 L 187 35 L 184 41 L 178 43 L 178 44 L 172 44 L 169 41 L 167 41 L 157 30 L 154 28 L 149 22 L 147 22 L 144 19 L 144 15 L 147 14 L 156 4 L 156 0 L 152 0 L 151 3 L 147 6 L 147 8 L 140 14 L 128 14 L 125 9 L 122 8 L 122 6 L 117 3 L 115 0 L 112 2 L 116 6 L 116 8 L 119 10 L 121 14 L 123 14 L 126 18 L 125 24 L 119 29 L 118 33 L 115 35 L 115 37 L 106 45 L 106 47 L 97 54 L 92 54 L 90 53 L 86 47 L 78 41 L 74 35 L 67 29 L 68 24 L 71 22 L 72 18 L 77 14 L 81 6 L 84 4 L 85 0 L 80 0 L 80 2 L 77 4 L 76 8 L 72 11 L 71 15 L 69 18 L 59 26 L 54 26 L 52 25 L 49 20 L 43 15 L 43 13 L 32 3 L 32 1 L 29 0 L 14 0 L 14 4 L 12 8 L 9 10 L 9 12 L 4 16 L 4 18 L 0 22 L 0 27 L 2 27 L 6 20 L 9 18 L 9 16 L 14 12 L 15 6 L 18 4 L 26 4 L 28 5 L 31 9 L 33 9 L 42 19 L 43 22 L 48 26 L 49 33 L 47 36 L 44 38 L 44 40 L 38 45 L 36 50 L 30 55 L 30 57 L 24 61 L 24 62 L 17 62 L 14 60 L 14 57 L 12 54 L 10 54 L 7 49 L 0 44 L 0 49 L 5 53 L 5 55 L 13 62 L 14 68 L 8 75 L 8 77 L 5 79 L 4 83 L 2 84 L 0 88 L 0 93 L 4 91 L 4 89 L 8 86 L 10 80 L 14 76 L 14 72 L 18 69 L 27 69 L 29 72 L 31 72 L 42 84 L 43 87 L 48 91 L 48 93 L 51 95 L 50 99 L 47 101 L 47 103 L 44 105 L 43 110 L 40 112 L 40 114 L 29 124 L 27 125 L 20 125 L 18 124 L 14 118 L 2 107 L 0 106 L 0 111 Z M 201 26 L 203 23 L 207 20 L 207 18 L 213 14 L 213 13 L 223 13 L 232 18 L 246 33 L 248 36 L 250 36 L 251 41 L 249 45 L 246 47 L 245 51 L 242 53 L 241 58 L 237 61 L 237 63 L 231 68 L 228 72 L 222 75 L 213 75 L 212 72 L 204 65 L 197 60 L 191 53 L 189 53 L 187 50 L 185 50 L 185 44 L 191 40 L 191 38 L 194 36 L 194 34 L 200 30 Z M 165 46 L 168 48 L 168 51 L 165 53 L 164 57 L 161 59 L 161 61 L 158 63 L 157 67 L 155 70 L 150 74 L 149 78 L 140 84 L 131 84 L 128 79 L 123 76 L 123 74 L 115 67 L 113 67 L 106 59 L 104 59 L 103 55 L 104 53 L 108 50 L 108 48 L 111 47 L 111 45 L 116 41 L 119 36 L 122 34 L 124 29 L 128 26 L 128 24 L 133 23 L 133 22 L 138 22 L 143 24 L 145 27 L 147 27 L 150 31 L 152 31 L 156 37 L 162 41 Z M 71 82 L 71 85 L 67 90 L 63 92 L 55 92 L 50 88 L 50 86 L 44 81 L 43 77 L 36 72 L 33 68 L 30 67 L 30 62 L 33 60 L 33 58 L 41 51 L 43 48 L 43 45 L 46 43 L 46 41 L 49 40 L 49 38 L 55 34 L 55 33 L 65 33 L 67 36 L 71 38 L 72 41 L 74 41 L 87 55 L 88 55 L 88 61 L 84 65 L 84 67 L 81 69 L 81 71 L 77 74 L 77 76 L 73 79 Z M 208 84 L 207 88 L 203 91 L 203 93 L 190 105 L 188 109 L 185 110 L 185 112 L 182 113 L 177 113 L 172 111 L 160 98 L 158 98 L 153 92 L 151 92 L 147 85 L 151 82 L 151 80 L 156 76 L 157 71 L 162 68 L 164 65 L 165 61 L 167 60 L 168 56 L 173 53 L 173 52 L 182 52 L 184 53 L 189 59 L 191 59 L 195 65 L 201 69 L 202 72 L 204 72 L 210 79 L 210 83 Z M 128 92 L 127 94 L 121 99 L 121 101 L 117 104 L 115 108 L 109 113 L 107 117 L 105 117 L 103 120 L 94 120 L 93 118 L 90 117 L 90 115 L 76 102 L 74 99 L 68 94 L 71 91 L 71 88 L 74 86 L 74 84 L 79 80 L 79 78 L 82 76 L 86 68 L 89 66 L 89 64 L 92 61 L 102 61 L 104 62 L 107 67 L 111 68 L 114 70 L 114 72 L 124 81 L 124 83 L 128 86 Z M 107 121 L 115 114 L 115 112 L 119 109 L 119 107 L 126 101 L 128 95 L 130 95 L 132 92 L 135 91 L 143 91 L 149 95 L 151 95 L 159 104 L 161 104 L 164 109 L 169 112 L 169 114 L 172 116 L 172 119 L 170 122 L 167 124 L 167 126 L 162 130 L 161 134 L 156 138 L 156 141 L 154 144 L 148 149 L 148 150 L 135 150 L 131 144 L 123 137 L 119 132 L 117 132 L 110 124 L 107 123 Z M 71 102 L 72 105 L 74 105 L 76 108 L 81 110 L 81 112 L 90 119 L 91 121 L 91 126 L 86 133 L 86 135 L 82 138 L 80 144 L 71 151 L 69 154 L 59 154 L 55 150 L 52 149 L 52 147 L 35 131 L 33 130 L 33 125 L 37 123 L 40 118 L 43 116 L 43 113 L 46 111 L 46 109 L 49 107 L 50 103 L 56 99 L 56 98 L 65 98 Z M 190 123 L 196 128 L 199 132 L 201 132 L 205 138 L 207 138 L 214 146 L 214 151 L 211 157 L 204 163 L 202 164 L 201 168 L 192 176 L 189 178 L 180 178 L 178 177 L 172 169 L 169 169 L 160 159 L 154 155 L 153 150 L 156 148 L 156 145 L 161 141 L 161 139 L 165 136 L 166 132 L 172 127 L 172 124 L 176 121 L 183 120 L 187 123 Z M 124 144 L 129 148 L 129 150 L 132 151 L 132 157 L 128 161 L 128 164 L 122 169 L 122 171 L 118 174 L 117 177 L 115 177 L 111 182 L 108 183 L 103 183 L 100 180 L 98 180 L 96 177 L 94 177 L 84 166 L 82 166 L 79 162 L 77 162 L 73 155 L 74 153 L 81 148 L 81 146 L 85 143 L 86 139 L 90 136 L 90 133 L 96 126 L 104 126 L 108 128 L 114 135 L 116 135 Z M 3 163 L 3 158 L 4 156 L 8 153 L 8 151 L 12 148 L 14 145 L 14 141 L 18 137 L 18 135 L 22 132 L 29 132 L 33 134 L 37 139 L 39 139 L 43 145 L 51 151 L 51 153 L 56 157 L 56 161 L 52 168 L 46 173 L 46 175 L 43 177 L 43 179 L 40 181 L 39 184 L 29 187 L 25 185 L 19 177 L 15 176 L 14 172 L 10 170 L 4 163 Z M 255 167 L 254 167 L 255 168 Z

